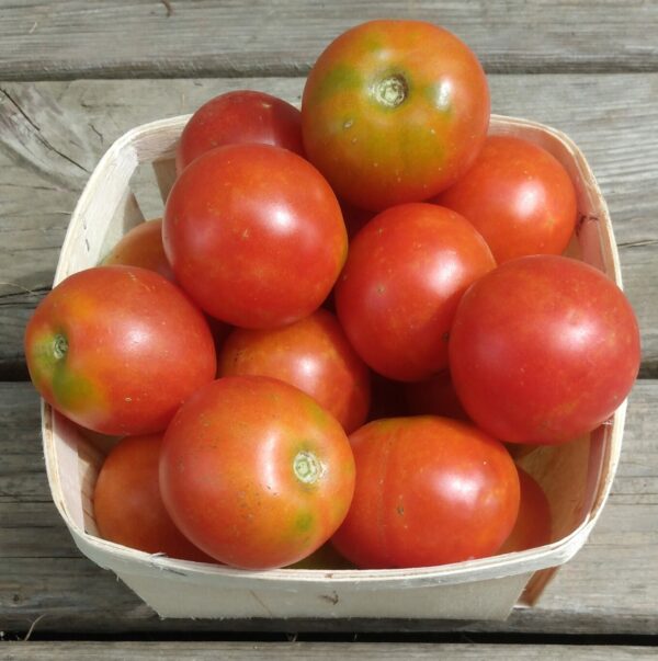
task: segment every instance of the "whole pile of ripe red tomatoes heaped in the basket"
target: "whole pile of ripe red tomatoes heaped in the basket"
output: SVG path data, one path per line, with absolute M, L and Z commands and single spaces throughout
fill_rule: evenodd
M 564 167 L 488 137 L 489 113 L 475 55 L 413 21 L 340 35 L 300 111 L 256 91 L 196 111 L 163 218 L 26 330 L 42 396 L 122 437 L 94 493 L 103 537 L 246 569 L 551 540 L 509 444 L 605 421 L 638 329 L 614 283 L 561 257 Z

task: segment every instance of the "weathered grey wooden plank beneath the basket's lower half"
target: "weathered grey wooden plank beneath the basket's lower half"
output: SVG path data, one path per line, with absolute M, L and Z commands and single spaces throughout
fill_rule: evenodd
M 81 557 L 47 498 L 37 397 L 0 384 L 0 629 L 36 631 L 463 631 L 635 634 L 658 630 L 658 380 L 640 381 L 601 521 L 538 605 L 506 623 L 436 620 L 160 620 L 111 572 Z

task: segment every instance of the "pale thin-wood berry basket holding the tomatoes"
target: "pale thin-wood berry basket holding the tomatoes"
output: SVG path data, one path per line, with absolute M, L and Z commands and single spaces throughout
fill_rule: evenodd
M 152 166 L 162 200 L 174 178 L 177 140 L 189 116 L 138 126 L 109 149 L 73 212 L 55 284 L 95 265 L 143 220 L 131 191 L 139 164 Z M 568 170 L 578 192 L 572 257 L 621 286 L 608 208 L 585 157 L 549 127 L 494 116 L 490 133 L 530 139 Z M 43 403 L 42 430 L 53 499 L 80 550 L 114 571 L 163 617 L 404 617 L 503 619 L 531 605 L 557 567 L 585 544 L 608 498 L 620 457 L 626 402 L 588 437 L 540 447 L 520 464 L 547 493 L 553 542 L 522 552 L 395 570 L 243 571 L 149 555 L 98 536 L 93 486 L 111 440 L 80 430 Z

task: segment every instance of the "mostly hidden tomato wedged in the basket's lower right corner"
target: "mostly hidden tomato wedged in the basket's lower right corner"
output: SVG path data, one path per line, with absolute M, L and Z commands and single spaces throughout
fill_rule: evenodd
M 499 554 L 527 550 L 551 543 L 552 517 L 548 499 L 533 477 L 519 466 L 517 469 L 521 487 L 519 516 L 510 536 L 498 549 Z

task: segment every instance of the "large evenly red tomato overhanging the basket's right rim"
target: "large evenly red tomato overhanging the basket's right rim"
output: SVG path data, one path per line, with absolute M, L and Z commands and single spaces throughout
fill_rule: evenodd
M 591 432 L 628 395 L 639 333 L 603 273 L 569 258 L 506 262 L 462 298 L 450 369 L 462 404 L 513 443 L 564 443 Z

